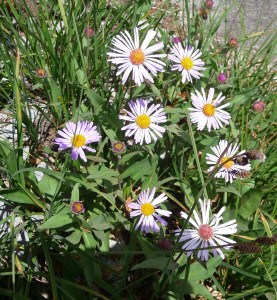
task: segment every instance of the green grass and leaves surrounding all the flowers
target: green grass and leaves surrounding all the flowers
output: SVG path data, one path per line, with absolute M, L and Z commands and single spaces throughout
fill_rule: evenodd
M 200 212 L 198 198 L 206 197 L 213 214 L 225 206 L 224 220 L 236 219 L 238 243 L 276 234 L 276 31 L 261 32 L 257 24 L 253 34 L 237 37 L 237 47 L 229 45 L 227 31 L 219 42 L 219 26 L 238 1 L 209 10 L 207 21 L 188 0 L 181 8 L 163 1 L 153 11 L 150 0 L 29 2 L 0 4 L 0 108 L 15 133 L 12 140 L 2 132 L 0 138 L 0 199 L 12 211 L 0 220 L 10 228 L 1 233 L 2 297 L 42 299 L 44 285 L 50 299 L 214 299 L 211 290 L 224 299 L 275 299 L 276 245 L 252 254 L 230 250 L 224 260 L 203 263 L 197 251 L 187 258 L 174 230 L 192 228 L 180 213 Z M 161 24 L 168 17 L 174 30 Z M 159 32 L 155 41 L 164 42 L 163 54 L 173 36 L 200 49 L 204 76 L 183 84 L 165 58 L 165 72 L 154 83 L 135 86 L 129 78 L 123 85 L 107 52 L 116 34 L 133 35 L 134 26 L 140 38 L 150 29 Z M 87 27 L 93 36 L 85 34 Z M 36 74 L 38 68 L 46 77 Z M 223 71 L 225 83 L 217 79 Z M 230 126 L 199 131 L 189 120 L 191 93 L 211 87 L 230 102 L 232 119 Z M 164 107 L 165 133 L 156 143 L 124 137 L 118 115 L 135 98 Z M 253 108 L 258 99 L 262 111 Z M 34 108 L 39 117 L 32 118 Z M 58 151 L 53 140 L 66 122 L 83 120 L 96 125 L 101 140 L 93 143 L 96 153 L 86 152 L 87 162 L 73 161 L 72 149 Z M 208 174 L 206 164 L 220 140 L 260 149 L 267 159 L 252 160 L 248 178 L 226 183 Z M 122 153 L 112 149 L 118 141 L 126 145 Z M 158 233 L 141 233 L 139 218 L 130 217 L 128 204 L 148 188 L 165 193 L 160 208 L 172 212 Z M 82 213 L 73 212 L 75 202 L 84 206 Z M 161 246 L 164 238 L 168 249 Z

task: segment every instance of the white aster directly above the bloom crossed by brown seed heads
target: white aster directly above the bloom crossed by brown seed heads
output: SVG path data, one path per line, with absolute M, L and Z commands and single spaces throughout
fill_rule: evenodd
M 230 105 L 230 103 L 226 103 L 217 107 L 225 97 L 221 97 L 222 93 L 220 93 L 216 99 L 214 97 L 214 88 L 210 88 L 208 98 L 206 98 L 205 91 L 202 88 L 202 95 L 195 90 L 196 95 L 191 93 L 192 105 L 195 108 L 189 108 L 193 112 L 190 113 L 190 118 L 192 123 L 197 123 L 197 130 L 203 130 L 207 125 L 208 131 L 213 129 L 222 128 L 223 125 L 221 122 L 225 124 L 229 124 L 229 119 L 231 115 L 222 110 L 223 108 Z

